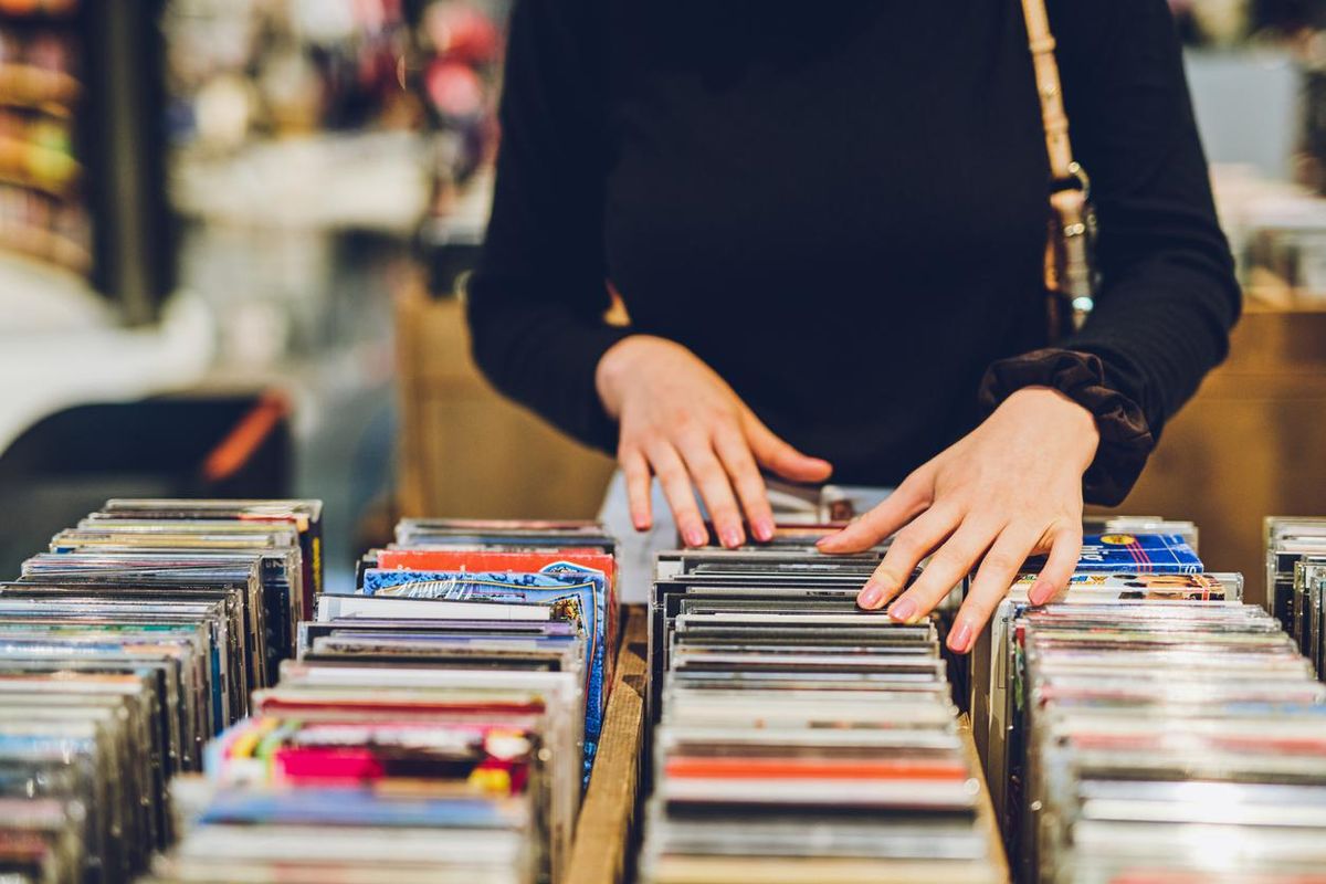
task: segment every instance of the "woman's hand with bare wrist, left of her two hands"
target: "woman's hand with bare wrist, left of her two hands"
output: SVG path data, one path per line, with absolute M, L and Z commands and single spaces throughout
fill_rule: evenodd
M 594 383 L 621 427 L 617 460 L 638 531 L 652 522 L 651 476 L 659 477 L 687 546 L 708 541 L 693 486 L 720 542 L 736 547 L 745 542 L 743 512 L 754 539 L 773 538 L 761 467 L 800 482 L 822 482 L 833 472 L 774 436 L 723 378 L 672 341 L 623 338 L 599 359 Z

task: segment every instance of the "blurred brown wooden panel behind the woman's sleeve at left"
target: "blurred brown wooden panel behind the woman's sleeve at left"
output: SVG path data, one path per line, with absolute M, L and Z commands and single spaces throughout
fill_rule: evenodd
M 459 298 L 396 301 L 403 516 L 593 518 L 613 463 L 501 398 L 469 358 Z

